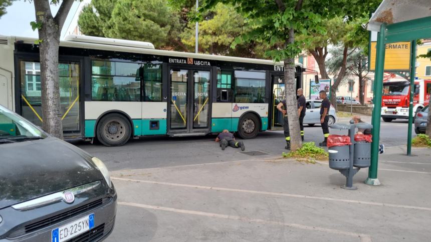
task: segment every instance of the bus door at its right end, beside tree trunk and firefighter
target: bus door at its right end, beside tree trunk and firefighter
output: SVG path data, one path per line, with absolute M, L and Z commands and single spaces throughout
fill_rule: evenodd
M 283 130 L 283 113 L 277 109 L 278 103 L 285 99 L 283 75 L 271 75 L 272 91 L 270 100 L 270 129 Z

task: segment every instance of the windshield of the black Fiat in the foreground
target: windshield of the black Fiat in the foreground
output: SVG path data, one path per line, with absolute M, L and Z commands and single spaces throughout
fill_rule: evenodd
M 34 124 L 0 105 L 0 144 L 46 137 Z

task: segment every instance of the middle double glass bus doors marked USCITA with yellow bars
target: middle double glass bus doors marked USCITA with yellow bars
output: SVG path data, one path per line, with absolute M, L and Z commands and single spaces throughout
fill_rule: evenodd
M 168 134 L 207 134 L 211 128 L 211 70 L 172 67 L 169 70 Z

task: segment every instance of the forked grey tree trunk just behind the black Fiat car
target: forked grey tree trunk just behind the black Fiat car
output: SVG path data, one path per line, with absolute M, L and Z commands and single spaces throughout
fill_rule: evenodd
M 40 24 L 39 51 L 41 62 L 42 119 L 43 128 L 51 135 L 63 138 L 60 113 L 60 84 L 58 50 L 61 28 L 73 0 L 63 0 L 55 17 L 48 0 L 34 0 L 36 21 Z

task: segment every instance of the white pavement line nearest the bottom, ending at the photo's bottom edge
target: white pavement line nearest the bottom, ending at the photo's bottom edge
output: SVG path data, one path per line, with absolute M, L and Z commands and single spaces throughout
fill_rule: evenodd
M 134 207 L 141 207 L 141 208 L 148 208 L 148 209 L 155 209 L 155 210 L 162 210 L 162 211 L 179 212 L 179 213 L 200 215 L 200 216 L 207 216 L 207 217 L 233 219 L 233 220 L 240 220 L 240 221 L 246 221 L 246 222 L 257 222 L 257 223 L 264 223 L 264 224 L 271 224 L 271 225 L 281 225 L 281 226 L 288 226 L 288 227 L 300 228 L 300 229 L 306 229 L 306 230 L 349 235 L 349 236 L 359 237 L 361 242 L 371 242 L 372 241 L 371 236 L 369 234 L 348 232 L 348 231 L 332 229 L 332 228 L 309 226 L 309 225 L 303 225 L 303 224 L 298 224 L 298 223 L 286 223 L 286 222 L 281 222 L 281 221 L 264 220 L 264 219 L 258 219 L 258 218 L 240 217 L 240 216 L 220 214 L 220 213 L 212 213 L 212 212 L 178 209 L 178 208 L 164 207 L 164 206 L 154 206 L 154 205 L 147 205 L 147 204 L 134 203 L 134 202 L 118 201 L 117 203 L 120 205 L 134 206 Z

